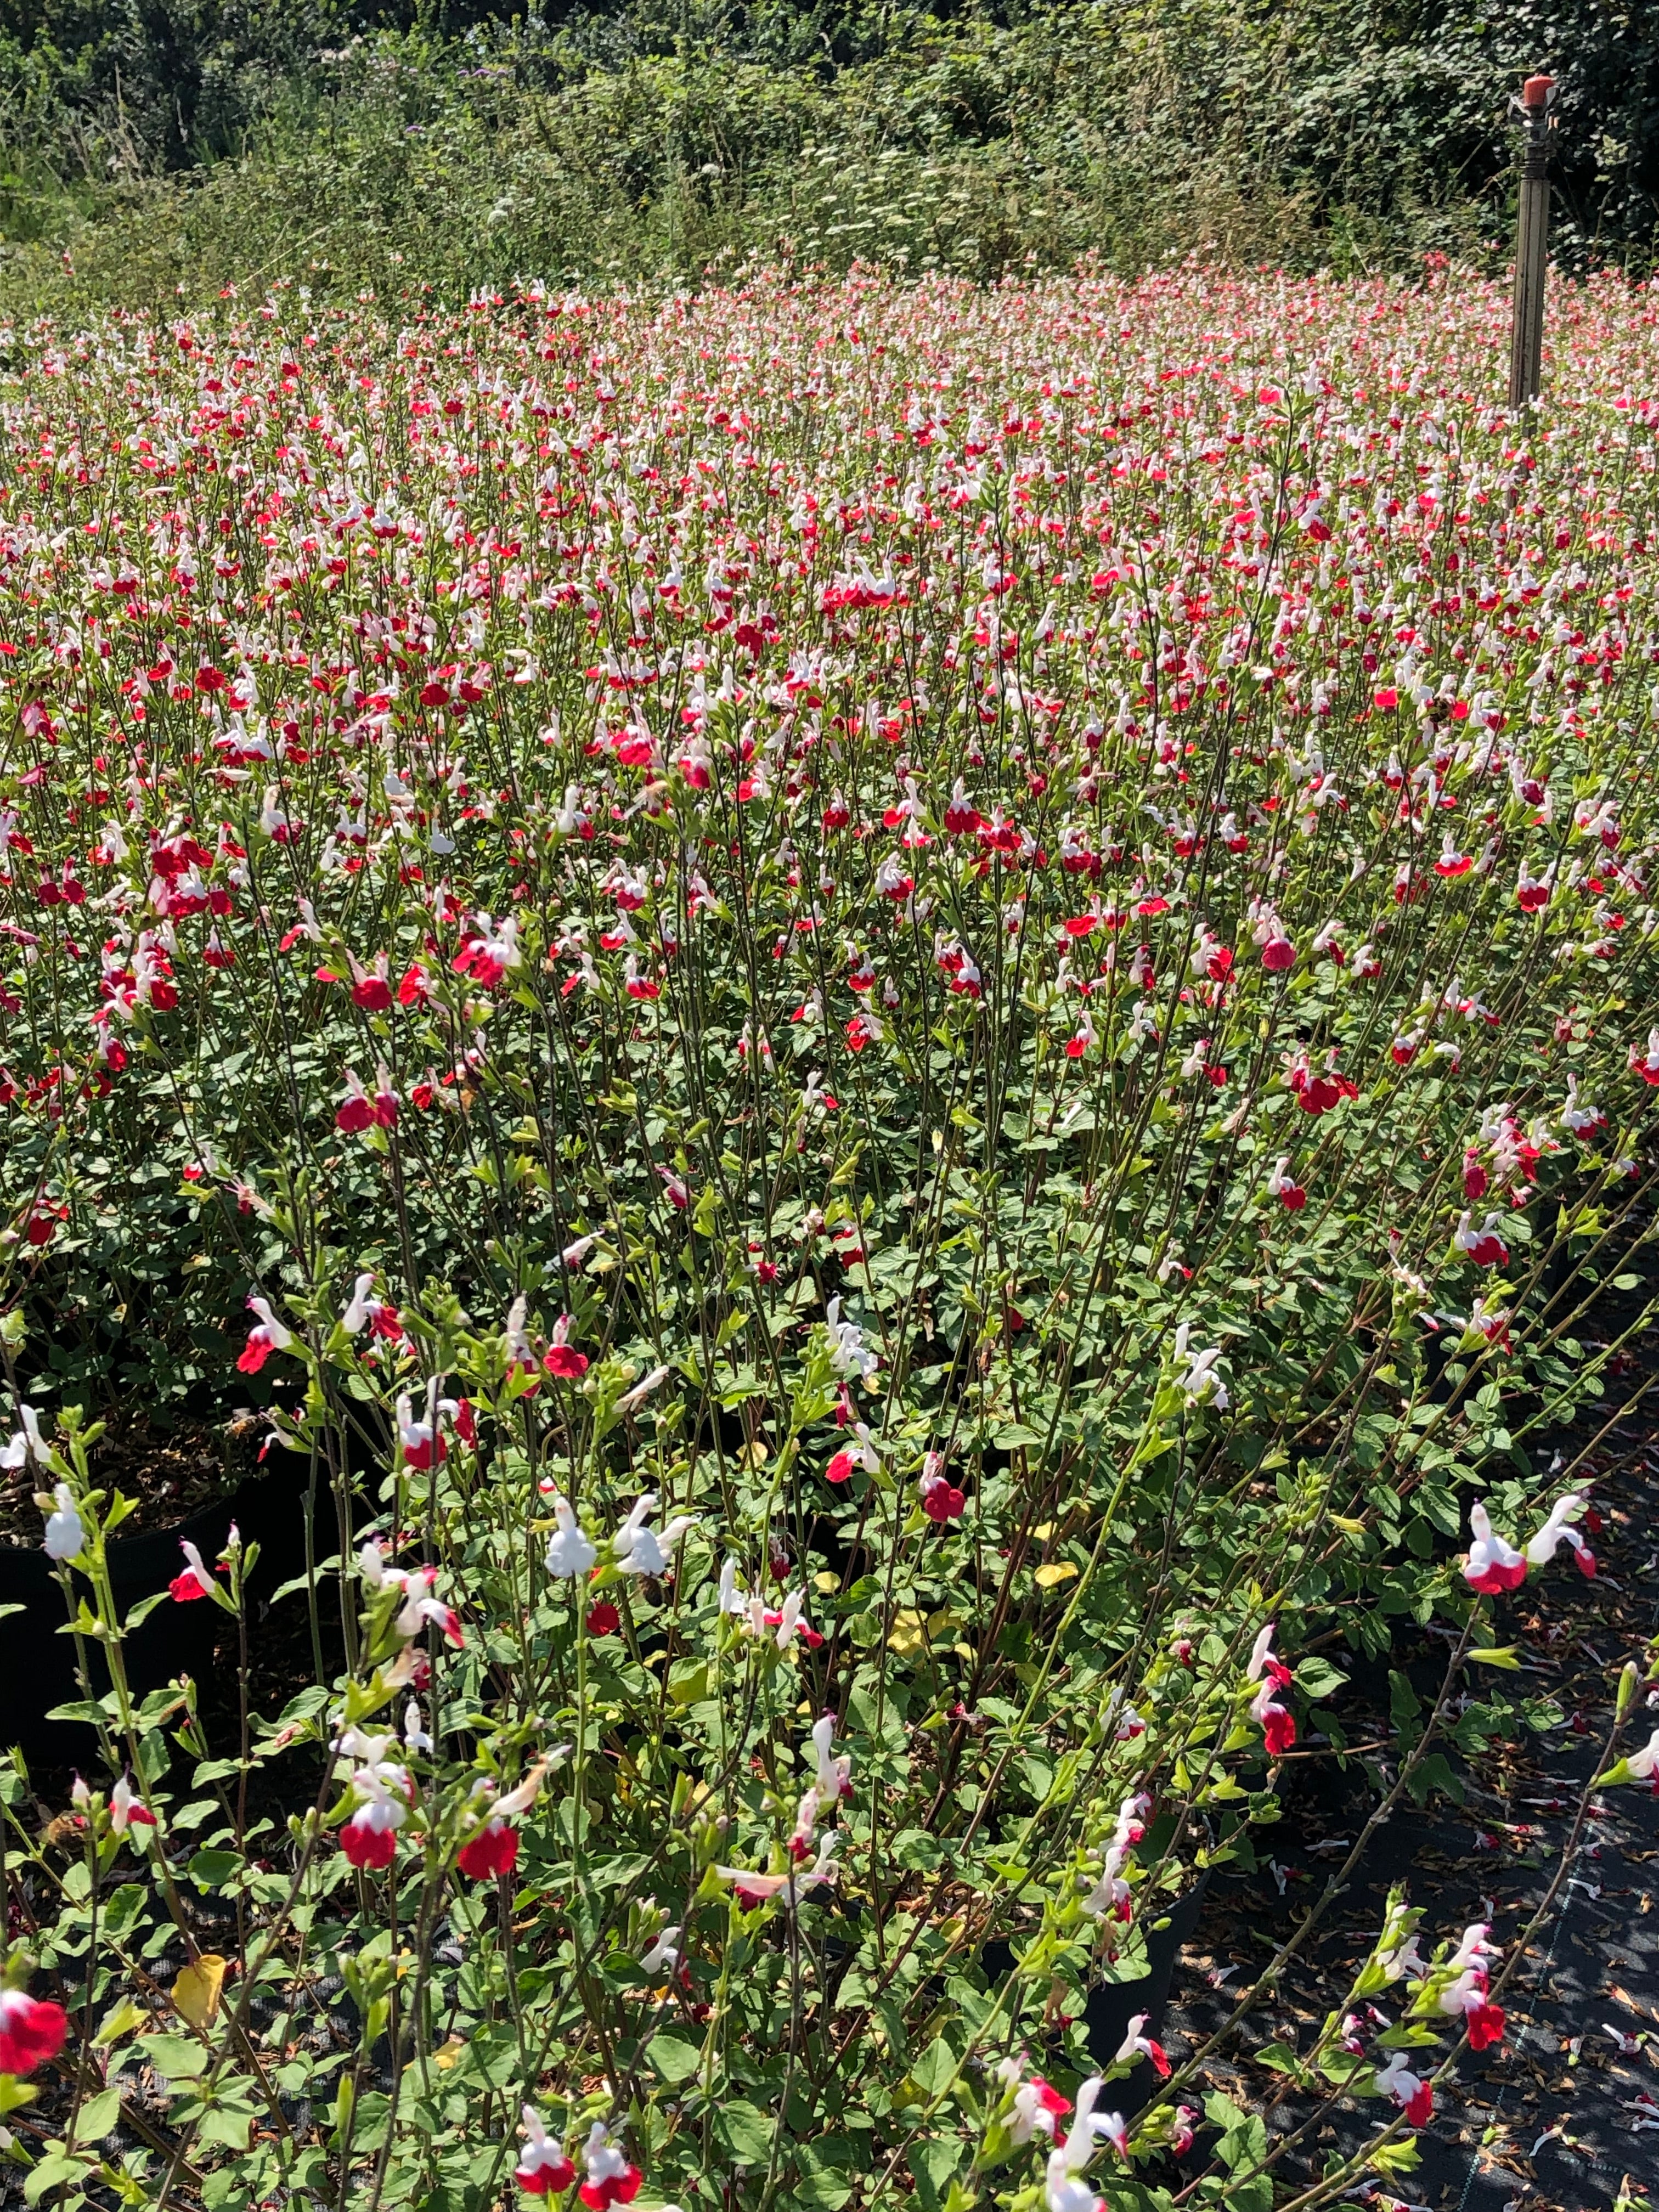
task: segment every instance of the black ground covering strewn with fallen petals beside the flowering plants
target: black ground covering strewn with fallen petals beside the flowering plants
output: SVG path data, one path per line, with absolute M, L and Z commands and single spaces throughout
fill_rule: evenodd
M 1542 1902 L 1568 1838 L 1577 1798 L 1613 1721 L 1613 1690 L 1626 1659 L 1639 1659 L 1659 1628 L 1659 1407 L 1652 1398 L 1635 1418 L 1610 1429 L 1593 1458 L 1601 1531 L 1601 1573 L 1584 1582 L 1557 1566 L 1511 1604 L 1502 1639 L 1526 1659 L 1524 1686 L 1540 1730 L 1491 1741 L 1462 1770 L 1464 1803 L 1436 1794 L 1431 1805 L 1402 1805 L 1371 1838 L 1349 1893 L 1292 1962 L 1279 2000 L 1263 2004 L 1243 2037 L 1261 2048 L 1274 2037 L 1307 2051 L 1325 2011 L 1347 1986 L 1380 1924 L 1389 1885 L 1402 1882 L 1411 1905 L 1427 1907 L 1425 1955 L 1455 1938 L 1469 1920 L 1489 1920 L 1506 1953 Z M 1584 1484 L 1579 1471 L 1575 1482 Z M 1340 1655 L 1336 1655 L 1340 1657 Z M 1396 1666 L 1429 1697 L 1444 1666 L 1444 1646 L 1396 1655 Z M 1484 1686 L 1482 1686 L 1484 1688 Z M 1387 1734 L 1387 1719 L 1380 1734 Z M 1646 1743 L 1659 1710 L 1637 1708 L 1626 1750 Z M 1367 1736 L 1371 1730 L 1367 1728 Z M 1166 2020 L 1172 2057 L 1212 2033 L 1272 1951 L 1321 1893 L 1332 1865 L 1347 1856 L 1374 1796 L 1358 1774 L 1310 1759 L 1285 1790 L 1285 1820 L 1265 1832 L 1272 1869 L 1217 1874 L 1199 1933 L 1177 1969 Z M 1378 2188 L 1360 2183 L 1358 2201 L 1378 2208 L 1411 2203 L 1431 2212 L 1601 2212 L 1659 2203 L 1659 1796 L 1619 1787 L 1595 1801 L 1568 1882 L 1528 1947 L 1504 2004 L 1502 2051 L 1467 2055 L 1458 2088 L 1440 2093 L 1440 2110 L 1418 2139 L 1418 2168 Z M 1219 1986 L 1217 1986 L 1219 1984 Z M 1389 2008 L 1385 2000 L 1385 2008 Z M 1270 2070 L 1221 2064 L 1214 2088 L 1245 2108 L 1283 2090 Z M 1312 2181 L 1332 2154 L 1354 2152 L 1380 2124 L 1385 2106 L 1338 2104 L 1316 2117 L 1283 2159 L 1283 2177 Z M 1314 2104 L 1283 2095 L 1274 2137 L 1314 2115 Z M 1190 2185 L 1206 2170 L 1208 2139 L 1183 2161 Z

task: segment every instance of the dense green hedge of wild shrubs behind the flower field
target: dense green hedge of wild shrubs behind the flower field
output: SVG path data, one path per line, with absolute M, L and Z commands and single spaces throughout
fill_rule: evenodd
M 0 4 L 15 305 L 283 268 L 456 296 L 779 254 L 1500 263 L 1504 104 L 1562 82 L 1557 252 L 1646 272 L 1659 31 L 1606 7 L 821 0 L 507 20 L 336 0 Z

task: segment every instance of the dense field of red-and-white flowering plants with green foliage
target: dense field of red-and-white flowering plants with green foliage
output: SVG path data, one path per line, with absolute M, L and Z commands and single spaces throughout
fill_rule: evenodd
M 1506 1593 L 1595 1573 L 1657 310 L 1562 292 L 1520 425 L 1506 314 L 1186 270 L 7 334 L 2 1460 L 84 1741 L 0 1783 L 29 2203 L 1409 2172 L 1528 1929 L 1396 1896 L 1263 2110 L 1095 2000 L 1402 1624 L 1444 1688 L 1356 1851 L 1520 1725 Z M 232 1535 L 128 1606 L 108 1453 L 248 1405 L 307 1571 Z M 223 1725 L 126 1668 L 192 1604 Z M 1659 1763 L 1619 1657 L 1604 1785 Z M 1310 2163 L 1285 2075 L 1365 2148 Z

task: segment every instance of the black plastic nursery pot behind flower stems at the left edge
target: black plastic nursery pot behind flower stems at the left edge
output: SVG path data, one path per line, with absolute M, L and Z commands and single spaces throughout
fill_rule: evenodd
M 307 1471 L 288 1453 L 283 1460 L 288 1464 L 241 1482 L 228 1498 L 170 1528 L 111 1537 L 111 1584 L 122 1613 L 142 1597 L 166 1590 L 184 1568 L 181 1537 L 212 1564 L 232 1522 L 243 1542 L 259 1544 L 259 1562 L 248 1577 L 250 1597 L 268 1597 L 281 1582 L 303 1573 Z M 334 1544 L 325 1542 L 323 1548 L 332 1551 Z M 82 1582 L 80 1575 L 75 1579 Z M 84 1765 L 95 1741 L 91 1723 L 46 1719 L 58 1705 L 77 1701 L 82 1688 L 75 1679 L 75 1639 L 60 1632 L 64 1593 L 42 1548 L 0 1546 L 0 1606 L 22 1606 L 22 1613 L 0 1617 L 0 1745 L 15 1745 L 38 1765 Z M 144 1697 L 175 1674 L 204 1679 L 226 1626 L 226 1615 L 208 1599 L 168 1599 L 155 1606 L 122 1646 L 131 1690 Z M 93 1692 L 102 1694 L 108 1688 L 102 1655 L 95 1644 L 86 1652 L 95 1670 Z

